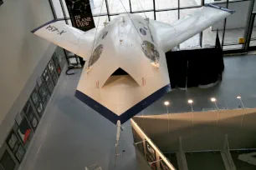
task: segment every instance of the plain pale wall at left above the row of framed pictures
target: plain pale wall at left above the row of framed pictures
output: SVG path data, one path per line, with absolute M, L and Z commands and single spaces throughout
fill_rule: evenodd
M 6 0 L 0 7 L 0 125 L 52 46 L 30 31 L 52 19 L 48 0 Z

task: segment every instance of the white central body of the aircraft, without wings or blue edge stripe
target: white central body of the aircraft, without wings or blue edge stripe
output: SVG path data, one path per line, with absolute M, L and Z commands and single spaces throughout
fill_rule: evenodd
M 149 29 L 152 28 L 148 28 L 151 25 L 147 25 L 144 18 L 136 15 L 131 17 L 134 19 L 133 23 L 129 16 L 124 15 L 115 18 L 103 30 L 108 34 L 95 44 L 95 47 L 103 45 L 103 52 L 99 60 L 90 66 L 90 72 L 87 73 L 84 68 L 77 87 L 80 92 L 100 102 L 118 116 L 170 83 L 165 53 L 151 41 Z M 140 28 L 147 28 L 146 36 L 138 33 Z M 158 48 L 159 68 L 153 67 L 151 60 L 141 50 L 144 40 L 154 43 Z M 110 77 L 119 67 L 130 76 Z M 142 85 L 142 78 L 146 80 L 145 85 Z M 99 88 L 96 87 L 96 82 L 99 82 Z

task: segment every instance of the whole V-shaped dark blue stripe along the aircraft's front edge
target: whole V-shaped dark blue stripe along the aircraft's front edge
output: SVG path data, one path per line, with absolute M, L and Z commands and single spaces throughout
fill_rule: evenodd
M 167 92 L 171 91 L 171 85 L 167 84 L 165 87 L 161 87 L 156 92 L 153 92 L 150 96 L 138 102 L 135 106 L 131 107 L 120 116 L 117 116 L 114 112 L 110 111 L 107 107 L 101 105 L 99 102 L 96 102 L 91 97 L 87 96 L 83 92 L 76 90 L 74 96 L 77 97 L 81 102 L 84 102 L 89 107 L 94 109 L 96 112 L 99 112 L 102 116 L 109 119 L 110 122 L 116 124 L 120 120 L 121 124 L 129 120 L 131 117 L 134 117 L 138 112 L 141 112 L 146 107 L 150 106 L 151 103 L 156 102 L 157 99 L 162 97 Z

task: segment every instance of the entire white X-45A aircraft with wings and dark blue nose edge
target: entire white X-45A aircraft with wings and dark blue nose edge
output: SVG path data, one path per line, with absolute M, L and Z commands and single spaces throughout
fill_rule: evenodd
M 171 91 L 165 52 L 232 13 L 207 4 L 172 25 L 126 13 L 87 32 L 57 21 L 32 32 L 84 58 L 75 96 L 116 124 Z

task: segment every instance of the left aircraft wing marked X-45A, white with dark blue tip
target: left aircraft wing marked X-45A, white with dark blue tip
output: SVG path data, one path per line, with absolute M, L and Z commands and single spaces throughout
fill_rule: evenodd
M 79 57 L 84 57 L 86 60 L 90 58 L 95 33 L 98 36 L 100 30 L 101 28 L 98 28 L 96 32 L 96 28 L 93 28 L 83 32 L 65 24 L 63 21 L 51 21 L 35 28 L 32 32 Z

